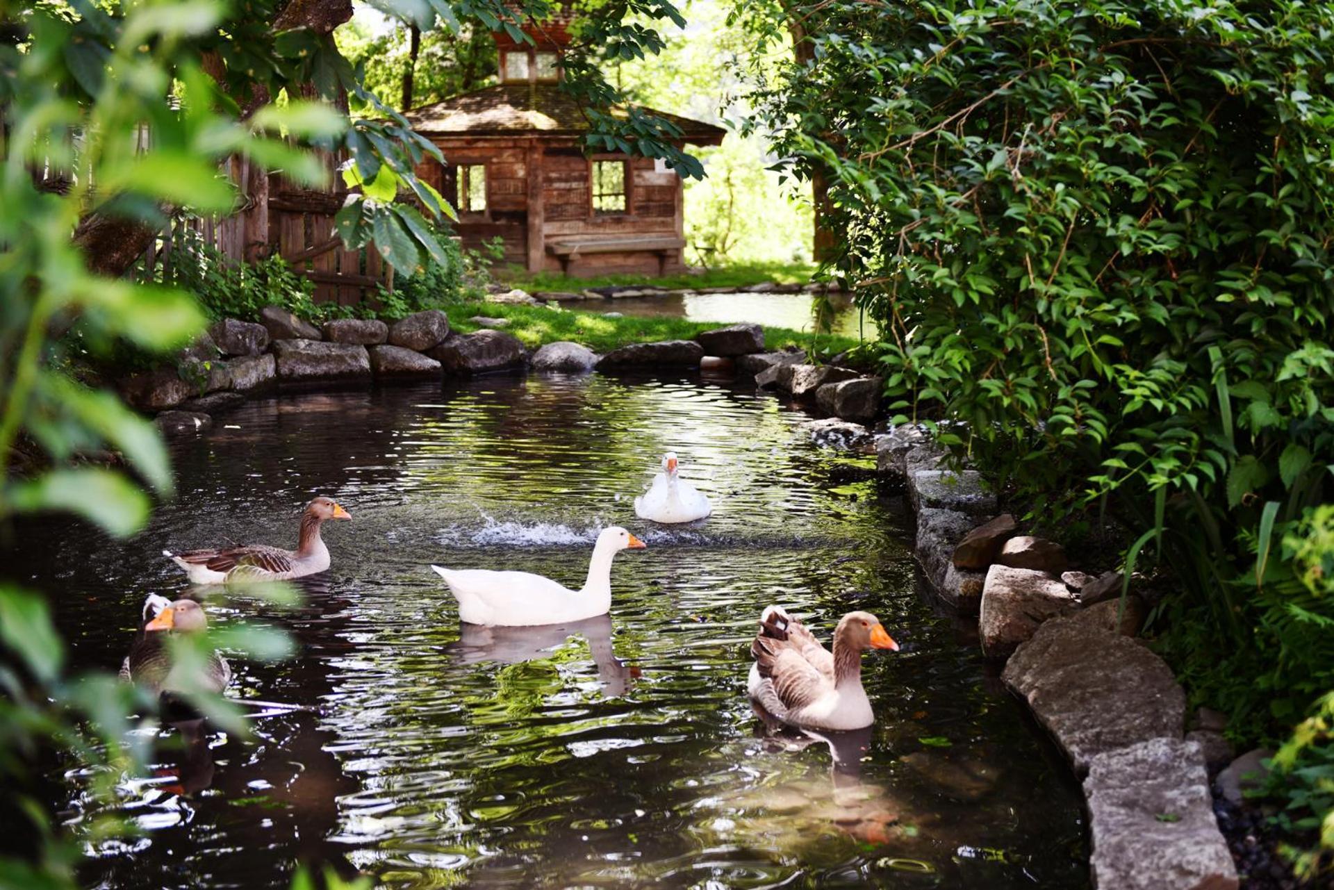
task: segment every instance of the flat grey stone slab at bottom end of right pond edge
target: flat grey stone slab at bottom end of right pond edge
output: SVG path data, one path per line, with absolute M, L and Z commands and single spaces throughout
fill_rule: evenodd
M 1235 890 L 1199 746 L 1154 738 L 1095 757 L 1083 783 L 1093 883 L 1111 890 Z

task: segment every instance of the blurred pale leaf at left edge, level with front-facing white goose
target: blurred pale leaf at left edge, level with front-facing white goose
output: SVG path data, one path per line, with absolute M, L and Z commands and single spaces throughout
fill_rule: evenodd
M 15 483 L 8 500 L 19 512 L 73 512 L 116 538 L 143 528 L 149 511 L 148 495 L 119 472 L 100 467 L 53 470 Z

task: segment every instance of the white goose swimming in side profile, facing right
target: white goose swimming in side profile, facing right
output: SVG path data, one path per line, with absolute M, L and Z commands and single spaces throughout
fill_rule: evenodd
M 611 608 L 611 559 L 627 547 L 643 546 L 644 542 L 619 526 L 603 528 L 592 548 L 588 579 L 580 590 L 526 571 L 431 568 L 444 578 L 459 600 L 460 620 L 499 627 L 558 624 L 606 615 Z

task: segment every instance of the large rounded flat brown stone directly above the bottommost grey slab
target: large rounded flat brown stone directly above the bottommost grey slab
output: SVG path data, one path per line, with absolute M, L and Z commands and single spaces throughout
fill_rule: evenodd
M 1178 741 L 1185 729 L 1186 694 L 1167 663 L 1081 615 L 1042 624 L 1010 656 L 1000 679 L 1027 701 L 1081 775 L 1099 754 L 1157 738 Z

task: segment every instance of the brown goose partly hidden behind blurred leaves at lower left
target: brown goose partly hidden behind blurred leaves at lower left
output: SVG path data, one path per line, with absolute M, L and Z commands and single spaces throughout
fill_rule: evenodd
M 207 626 L 204 607 L 193 599 L 169 603 L 165 596 L 151 594 L 144 602 L 144 623 L 120 664 L 120 679 L 157 694 L 221 693 L 232 681 L 232 666 L 225 658 L 209 652 L 201 666 L 187 667 L 175 662 L 167 644 L 171 634 L 197 634 Z

